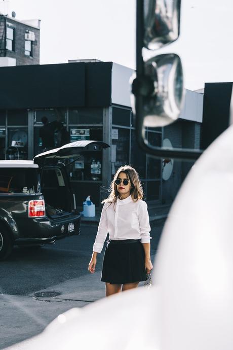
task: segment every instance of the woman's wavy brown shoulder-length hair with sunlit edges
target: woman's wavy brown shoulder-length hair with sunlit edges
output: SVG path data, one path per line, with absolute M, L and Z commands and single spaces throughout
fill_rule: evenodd
M 119 196 L 119 192 L 117 190 L 117 185 L 115 185 L 115 180 L 119 178 L 120 172 L 125 172 L 128 180 L 130 181 L 130 186 L 131 186 L 130 194 L 133 201 L 136 202 L 138 199 L 143 198 L 143 190 L 142 190 L 142 186 L 141 186 L 137 171 L 130 165 L 124 165 L 124 166 L 121 166 L 115 173 L 109 189 L 110 194 L 106 199 L 102 201 L 102 203 L 104 202 L 114 203 L 117 200 Z

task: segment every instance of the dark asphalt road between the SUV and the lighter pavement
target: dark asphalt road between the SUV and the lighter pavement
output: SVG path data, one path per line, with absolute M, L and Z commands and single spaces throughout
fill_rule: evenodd
M 157 249 L 163 223 L 151 230 L 151 253 Z M 0 262 L 0 294 L 28 295 L 87 273 L 96 227 L 83 226 L 79 236 L 67 237 L 43 248 L 15 248 Z M 97 271 L 101 269 L 98 258 Z

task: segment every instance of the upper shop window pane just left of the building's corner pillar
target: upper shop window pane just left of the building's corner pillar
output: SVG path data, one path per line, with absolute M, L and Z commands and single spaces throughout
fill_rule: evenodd
M 69 124 L 103 124 L 103 109 L 69 109 Z

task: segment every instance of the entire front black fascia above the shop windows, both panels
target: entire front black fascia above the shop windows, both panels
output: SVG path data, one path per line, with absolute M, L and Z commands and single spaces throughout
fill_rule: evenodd
M 0 109 L 111 104 L 112 62 L 0 67 Z

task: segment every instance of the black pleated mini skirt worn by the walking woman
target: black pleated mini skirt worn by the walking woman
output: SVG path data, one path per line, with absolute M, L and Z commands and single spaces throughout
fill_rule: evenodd
M 140 239 L 109 239 L 104 252 L 101 281 L 126 284 L 145 280 L 145 253 Z

